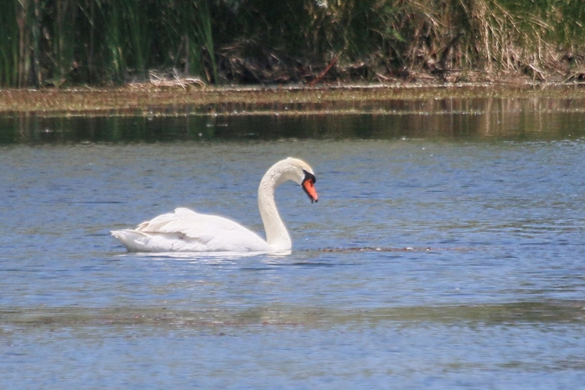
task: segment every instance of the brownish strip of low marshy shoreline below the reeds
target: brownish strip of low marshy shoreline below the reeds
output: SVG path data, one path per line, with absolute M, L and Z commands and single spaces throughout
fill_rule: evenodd
M 310 115 L 352 112 L 367 103 L 520 98 L 585 99 L 585 82 L 205 87 L 174 81 L 105 88 L 0 89 L 0 116 Z

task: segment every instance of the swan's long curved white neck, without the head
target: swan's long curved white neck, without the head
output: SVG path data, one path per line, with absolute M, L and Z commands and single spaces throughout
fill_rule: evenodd
M 282 164 L 273 165 L 264 174 L 258 187 L 258 209 L 264 223 L 266 243 L 276 250 L 290 250 L 292 247 L 287 228 L 278 214 L 274 201 L 274 190 L 287 180 L 284 178 L 284 170 Z

